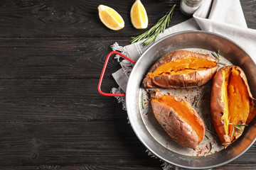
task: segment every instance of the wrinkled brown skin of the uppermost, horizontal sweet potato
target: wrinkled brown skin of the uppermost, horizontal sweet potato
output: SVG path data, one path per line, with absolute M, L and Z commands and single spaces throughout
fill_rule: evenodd
M 215 60 L 212 57 L 207 55 L 201 55 L 196 52 L 190 52 L 186 50 L 176 50 L 173 52 L 169 52 L 168 54 L 161 57 L 161 59 L 159 59 L 151 67 L 151 69 L 149 69 L 149 72 L 146 74 L 146 77 L 142 82 L 144 88 L 192 88 L 202 86 L 203 84 L 206 84 L 208 81 L 210 81 L 210 79 L 213 78 L 215 72 L 218 69 L 218 64 L 216 65 L 216 67 L 206 70 L 198 70 L 197 72 L 192 72 L 190 74 L 161 75 L 157 77 L 148 77 L 161 65 L 174 60 L 181 60 L 187 57 L 198 57 L 215 62 Z

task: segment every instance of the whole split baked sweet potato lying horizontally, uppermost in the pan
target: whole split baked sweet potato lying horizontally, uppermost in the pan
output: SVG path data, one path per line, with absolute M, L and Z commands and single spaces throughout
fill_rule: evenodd
M 144 88 L 190 88 L 213 78 L 218 63 L 210 56 L 176 50 L 161 57 L 146 74 Z

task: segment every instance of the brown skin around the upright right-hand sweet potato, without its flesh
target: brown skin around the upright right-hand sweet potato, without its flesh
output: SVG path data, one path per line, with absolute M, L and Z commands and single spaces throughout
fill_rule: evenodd
M 215 131 L 218 134 L 218 137 L 220 139 L 220 143 L 225 148 L 228 147 L 228 145 L 230 145 L 232 142 L 237 140 L 238 137 L 240 137 L 240 135 L 242 135 L 242 132 L 240 132 L 240 130 L 237 130 L 235 128 L 234 134 L 233 134 L 233 136 L 235 137 L 235 140 L 231 141 L 230 136 L 225 132 L 224 120 L 221 120 L 221 117 L 223 116 L 223 113 L 224 113 L 224 105 L 225 105 L 225 103 L 222 100 L 223 94 L 221 93 L 221 91 L 222 91 L 223 83 L 224 83 L 225 79 L 228 79 L 228 78 L 223 77 L 222 70 L 225 69 L 227 71 L 228 70 L 230 71 L 233 68 L 239 70 L 240 77 L 242 78 L 245 85 L 247 86 L 247 92 L 248 92 L 249 98 L 250 98 L 251 111 L 249 113 L 249 117 L 247 118 L 246 123 L 244 123 L 244 124 L 250 123 L 252 118 L 255 117 L 255 108 L 253 107 L 254 106 L 253 98 L 252 98 L 252 94 L 250 92 L 250 87 L 247 83 L 247 78 L 245 76 L 245 73 L 242 71 L 242 69 L 240 69 L 240 67 L 233 66 L 233 65 L 226 66 L 226 67 L 219 69 L 218 72 L 216 72 L 215 76 L 213 77 L 212 93 L 210 96 L 210 113 L 212 116 Z M 242 126 L 240 128 L 244 129 L 245 127 Z

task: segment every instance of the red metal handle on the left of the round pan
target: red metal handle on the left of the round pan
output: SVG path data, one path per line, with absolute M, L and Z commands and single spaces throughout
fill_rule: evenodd
M 110 56 L 111 55 L 120 55 L 121 57 L 123 57 L 124 59 L 128 60 L 129 62 L 132 62 L 133 64 L 135 64 L 134 60 L 130 59 L 129 57 L 123 55 L 121 52 L 117 52 L 117 51 L 112 51 L 110 52 L 108 55 L 107 55 L 107 58 L 105 60 L 105 64 L 103 66 L 103 69 L 102 69 L 102 74 L 100 75 L 100 81 L 99 81 L 99 84 L 98 84 L 98 91 L 100 92 L 100 94 L 102 94 L 103 96 L 125 96 L 125 94 L 107 94 L 107 93 L 104 93 L 102 90 L 101 90 L 101 85 L 102 85 L 102 79 L 104 77 L 104 74 L 105 74 L 105 71 L 106 71 L 106 68 L 107 68 L 107 62 L 110 60 Z

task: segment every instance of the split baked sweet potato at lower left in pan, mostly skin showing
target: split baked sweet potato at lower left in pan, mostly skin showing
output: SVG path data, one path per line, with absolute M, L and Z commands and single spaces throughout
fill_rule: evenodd
M 205 125 L 196 110 L 182 98 L 151 93 L 156 120 L 167 134 L 183 147 L 196 149 L 205 135 Z

